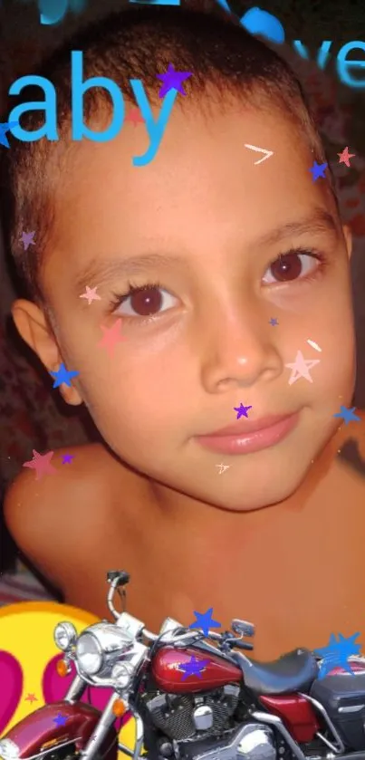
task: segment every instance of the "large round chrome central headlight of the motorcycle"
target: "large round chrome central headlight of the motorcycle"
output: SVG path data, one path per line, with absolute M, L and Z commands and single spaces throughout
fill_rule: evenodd
M 133 637 L 112 623 L 95 623 L 77 640 L 77 664 L 86 676 L 110 678 L 113 666 L 130 650 L 133 641 Z

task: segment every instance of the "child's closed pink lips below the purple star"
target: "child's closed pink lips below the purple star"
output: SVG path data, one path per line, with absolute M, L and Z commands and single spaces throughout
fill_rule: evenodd
M 236 425 L 197 436 L 201 446 L 220 454 L 249 454 L 274 446 L 298 424 L 300 412 L 261 419 L 241 419 Z

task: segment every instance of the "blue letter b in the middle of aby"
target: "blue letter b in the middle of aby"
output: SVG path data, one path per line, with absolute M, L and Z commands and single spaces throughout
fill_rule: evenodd
M 93 142 L 107 142 L 118 135 L 123 126 L 124 101 L 118 85 L 109 77 L 94 76 L 82 82 L 82 50 L 72 50 L 72 139 L 80 140 L 83 137 L 92 139 Z M 91 87 L 102 87 L 108 90 L 113 101 L 113 115 L 111 124 L 103 132 L 94 132 L 85 127 L 83 123 L 83 93 Z

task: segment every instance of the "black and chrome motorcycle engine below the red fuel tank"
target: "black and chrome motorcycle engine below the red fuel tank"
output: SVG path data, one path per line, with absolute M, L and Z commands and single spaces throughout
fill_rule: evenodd
M 165 738 L 158 757 L 180 760 L 276 760 L 268 726 L 234 719 L 240 689 L 233 684 L 199 696 L 157 694 L 145 701 L 153 726 Z

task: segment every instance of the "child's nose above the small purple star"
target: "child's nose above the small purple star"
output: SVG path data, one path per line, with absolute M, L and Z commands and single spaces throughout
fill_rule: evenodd
M 215 325 L 203 339 L 201 380 L 207 393 L 251 388 L 270 382 L 283 371 L 283 360 L 266 325 L 241 319 Z

